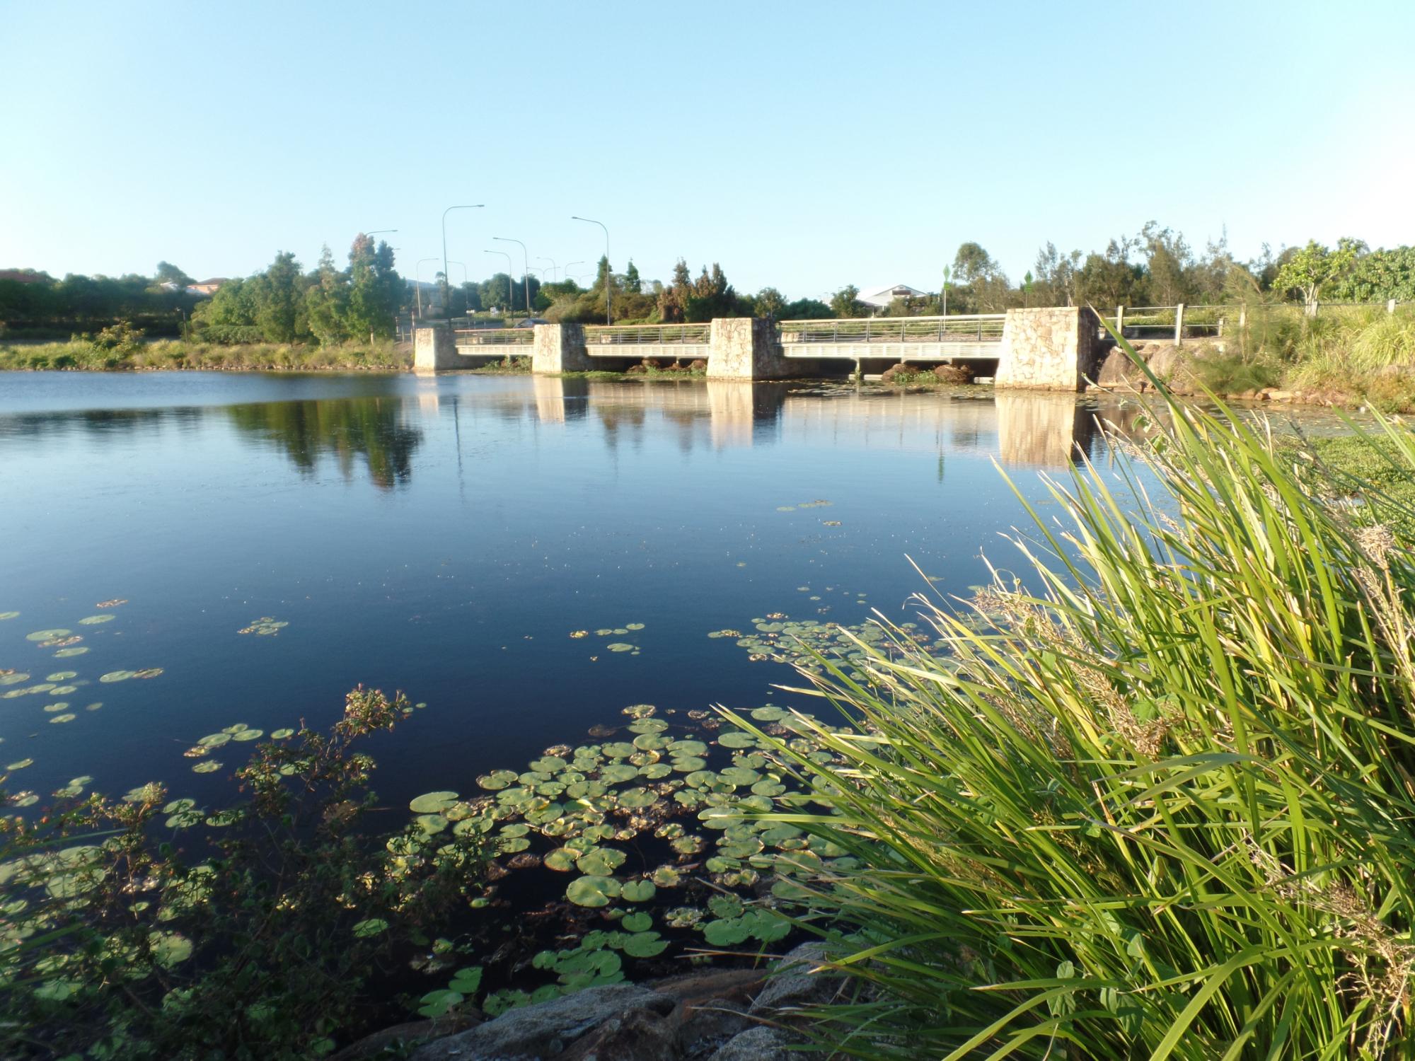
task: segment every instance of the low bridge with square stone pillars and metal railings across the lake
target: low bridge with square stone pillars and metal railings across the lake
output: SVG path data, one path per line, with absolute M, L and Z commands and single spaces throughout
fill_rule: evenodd
M 416 330 L 416 371 L 475 368 L 518 355 L 531 358 L 533 372 L 546 373 L 623 371 L 648 359 L 703 361 L 708 375 L 720 379 L 971 362 L 999 385 L 1075 390 L 1095 373 L 1099 321 L 1091 310 L 1068 307 L 952 317 Z

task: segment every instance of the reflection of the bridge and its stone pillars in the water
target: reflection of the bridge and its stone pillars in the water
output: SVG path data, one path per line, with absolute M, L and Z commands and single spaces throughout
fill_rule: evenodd
M 1060 468 L 1104 446 L 1097 417 L 1122 430 L 1140 407 L 1133 402 L 1077 399 L 1034 390 L 900 393 L 846 383 L 746 381 L 618 382 L 560 376 L 508 381 L 495 393 L 427 395 L 460 400 L 508 419 L 543 424 L 599 424 L 611 448 L 662 440 L 665 424 L 678 448 L 727 450 L 778 441 L 828 451 L 835 444 L 882 451 L 940 448 L 998 457 L 1003 464 Z

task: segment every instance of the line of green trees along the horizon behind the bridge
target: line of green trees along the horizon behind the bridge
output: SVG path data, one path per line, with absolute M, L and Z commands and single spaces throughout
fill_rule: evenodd
M 340 269 L 328 248 L 303 272 L 282 252 L 265 270 L 226 280 L 214 297 L 192 293 L 181 269 L 160 262 L 151 277 L 127 274 L 65 276 L 0 270 L 0 328 L 96 331 L 127 321 L 150 335 L 177 334 L 184 323 L 216 342 L 338 344 L 389 337 L 400 313 L 466 318 L 468 313 L 536 314 L 550 321 L 674 324 L 713 317 L 757 315 L 777 320 L 822 317 L 932 315 L 1002 313 L 1024 306 L 1173 306 L 1240 301 L 1415 301 L 1415 248 L 1371 249 L 1356 239 L 1336 248 L 1315 240 L 1238 260 L 1227 239 L 1194 250 L 1183 233 L 1145 225 L 1133 236 L 1111 239 L 1105 249 L 1061 252 L 1047 242 L 1032 269 L 1010 277 L 978 242 L 962 243 L 937 289 L 893 300 L 886 307 L 860 300 L 845 284 L 826 298 L 788 298 L 777 287 L 739 291 L 719 263 L 695 276 L 685 259 L 669 280 L 645 280 L 630 260 L 620 273 L 599 260 L 593 283 L 573 279 L 543 283 L 528 274 L 498 272 L 480 282 L 450 286 L 437 273 L 433 290 L 413 289 L 395 269 L 388 243 L 359 235 Z M 433 307 L 432 296 L 440 296 Z

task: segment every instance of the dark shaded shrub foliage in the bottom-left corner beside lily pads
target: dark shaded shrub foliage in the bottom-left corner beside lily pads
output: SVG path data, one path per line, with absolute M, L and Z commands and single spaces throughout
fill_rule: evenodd
M 355 746 L 410 713 L 355 689 L 328 734 L 256 746 L 222 811 L 151 784 L 4 819 L 0 1053 L 294 1061 L 359 1027 L 379 961 L 483 880 L 473 836 L 358 839 L 376 799 Z M 161 839 L 183 808 L 201 843 Z

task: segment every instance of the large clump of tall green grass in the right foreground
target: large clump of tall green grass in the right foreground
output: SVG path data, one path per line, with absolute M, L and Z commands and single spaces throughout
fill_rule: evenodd
M 791 821 L 857 860 L 809 894 L 859 989 L 815 1010 L 821 1045 L 1415 1057 L 1395 502 L 1329 497 L 1261 426 L 1167 400 L 1116 471 L 1050 485 L 1064 529 L 1033 512 L 1016 539 L 1036 593 L 999 570 L 966 605 L 921 600 L 942 658 L 891 630 L 857 645 L 867 680 L 812 679 L 860 723 L 794 723 L 843 765 L 780 744 L 828 808 Z

